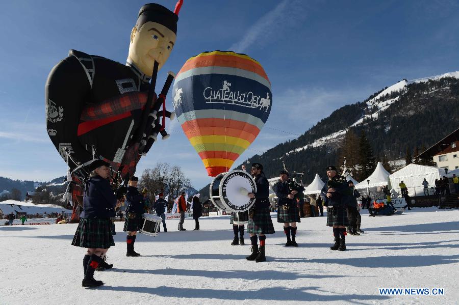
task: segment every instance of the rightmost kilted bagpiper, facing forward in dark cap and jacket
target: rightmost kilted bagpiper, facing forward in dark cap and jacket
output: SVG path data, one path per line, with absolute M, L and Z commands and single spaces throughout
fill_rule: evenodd
M 328 181 L 322 188 L 324 206 L 327 207 L 327 226 L 333 227 L 335 244 L 330 247 L 332 250 L 346 250 L 346 226 L 347 219 L 346 202 L 352 196 L 352 190 L 346 178 L 339 176 L 336 167 L 330 165 L 326 169 Z

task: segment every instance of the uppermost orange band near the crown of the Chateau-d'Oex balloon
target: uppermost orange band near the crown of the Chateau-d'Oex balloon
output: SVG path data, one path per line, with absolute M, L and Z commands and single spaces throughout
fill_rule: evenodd
M 257 73 L 266 80 L 269 81 L 268 75 L 266 75 L 265 70 L 260 65 L 257 65 L 251 60 L 240 58 L 237 56 L 228 56 L 228 55 L 209 55 L 209 56 L 197 56 L 190 60 L 188 60 L 185 65 L 183 65 L 182 69 L 180 69 L 179 73 L 183 73 L 185 71 L 194 69 L 194 68 L 202 68 L 202 67 L 230 67 L 230 68 L 238 68 L 242 70 L 251 71 Z

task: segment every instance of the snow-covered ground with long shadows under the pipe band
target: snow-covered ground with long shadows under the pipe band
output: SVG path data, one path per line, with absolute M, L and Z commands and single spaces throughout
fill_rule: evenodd
M 96 272 L 106 285 L 81 287 L 84 249 L 70 245 L 76 224 L 0 227 L 1 304 L 266 304 L 457 303 L 459 211 L 417 208 L 399 216 L 362 214 L 361 236 L 348 251 L 331 251 L 325 216 L 303 218 L 298 248 L 284 247 L 282 225 L 266 242 L 267 262 L 245 260 L 249 245 L 232 246 L 228 216 L 186 219 L 186 232 L 168 220 L 168 233 L 140 234 L 141 257 L 125 257 L 125 234 L 116 223 L 116 246 Z M 245 235 L 249 243 L 248 235 Z M 444 288 L 443 296 L 379 295 L 382 287 Z

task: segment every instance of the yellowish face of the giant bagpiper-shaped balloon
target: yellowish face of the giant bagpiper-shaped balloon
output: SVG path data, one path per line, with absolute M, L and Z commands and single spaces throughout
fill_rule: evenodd
M 157 22 L 146 22 L 140 29 L 132 29 L 129 58 L 143 73 L 151 75 L 155 60 L 159 64 L 158 69 L 167 61 L 175 39 L 175 33 L 166 26 Z

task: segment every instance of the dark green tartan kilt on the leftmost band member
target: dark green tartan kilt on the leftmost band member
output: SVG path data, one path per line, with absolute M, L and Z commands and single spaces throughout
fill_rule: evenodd
M 82 248 L 108 249 L 115 245 L 110 218 L 80 218 L 72 245 Z

